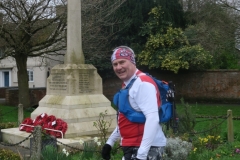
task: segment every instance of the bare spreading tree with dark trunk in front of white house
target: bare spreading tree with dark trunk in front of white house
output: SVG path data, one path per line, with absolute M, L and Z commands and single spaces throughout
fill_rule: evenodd
M 17 65 L 19 103 L 29 107 L 27 59 L 45 54 L 59 55 L 66 46 L 66 12 L 56 14 L 53 0 L 1 0 L 3 20 L 0 24 L 0 59 L 13 57 Z

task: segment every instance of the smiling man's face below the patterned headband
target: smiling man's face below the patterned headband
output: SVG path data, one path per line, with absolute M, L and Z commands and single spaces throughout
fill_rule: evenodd
M 115 74 L 122 81 L 129 80 L 136 71 L 136 66 L 127 59 L 116 59 L 112 62 Z

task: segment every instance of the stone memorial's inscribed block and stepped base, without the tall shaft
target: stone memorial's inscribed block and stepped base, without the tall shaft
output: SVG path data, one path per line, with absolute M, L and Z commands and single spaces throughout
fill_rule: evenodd
M 90 64 L 61 64 L 52 68 L 47 79 L 47 94 L 31 113 L 34 119 L 42 113 L 54 115 L 68 124 L 64 138 L 97 135 L 93 122 L 107 111 L 109 131 L 116 126 L 116 111 L 102 94 L 102 79 Z

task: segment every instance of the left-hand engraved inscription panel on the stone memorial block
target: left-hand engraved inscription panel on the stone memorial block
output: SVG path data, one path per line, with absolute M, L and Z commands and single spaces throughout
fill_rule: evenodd
M 67 82 L 64 73 L 51 73 L 50 90 L 66 91 Z

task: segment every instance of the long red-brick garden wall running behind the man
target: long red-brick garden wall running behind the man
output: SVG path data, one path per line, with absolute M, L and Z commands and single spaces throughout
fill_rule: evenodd
M 186 102 L 240 103 L 240 71 L 237 70 L 148 73 L 161 80 L 173 81 L 177 101 L 183 98 Z M 121 81 L 117 77 L 103 81 L 104 95 L 110 100 L 120 88 Z

